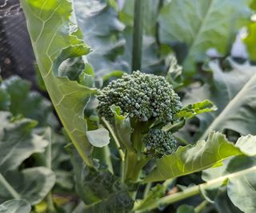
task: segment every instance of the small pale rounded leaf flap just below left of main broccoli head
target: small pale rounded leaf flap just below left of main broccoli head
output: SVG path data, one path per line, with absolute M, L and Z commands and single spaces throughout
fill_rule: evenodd
M 102 148 L 107 144 L 110 144 L 110 134 L 106 128 L 87 131 L 86 136 L 88 137 L 90 144 L 94 147 Z

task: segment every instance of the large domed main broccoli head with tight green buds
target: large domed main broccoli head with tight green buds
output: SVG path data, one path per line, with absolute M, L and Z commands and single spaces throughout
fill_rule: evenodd
M 111 120 L 111 105 L 119 106 L 122 113 L 139 121 L 174 120 L 174 114 L 182 108 L 182 103 L 172 86 L 164 77 L 136 71 L 112 81 L 98 96 L 98 111 Z

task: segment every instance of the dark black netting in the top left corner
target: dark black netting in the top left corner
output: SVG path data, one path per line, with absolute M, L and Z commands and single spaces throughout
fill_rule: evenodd
M 0 72 L 34 82 L 34 53 L 19 0 L 0 0 Z

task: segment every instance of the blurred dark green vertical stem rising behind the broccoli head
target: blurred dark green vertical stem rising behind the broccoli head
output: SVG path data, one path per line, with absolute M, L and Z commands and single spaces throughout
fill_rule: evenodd
M 136 0 L 134 3 L 132 71 L 141 70 L 142 66 L 143 2 Z

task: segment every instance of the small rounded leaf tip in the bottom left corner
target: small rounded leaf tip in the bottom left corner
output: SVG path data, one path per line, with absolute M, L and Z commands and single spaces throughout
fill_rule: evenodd
M 0 213 L 30 213 L 30 204 L 23 199 L 11 199 L 0 205 Z

